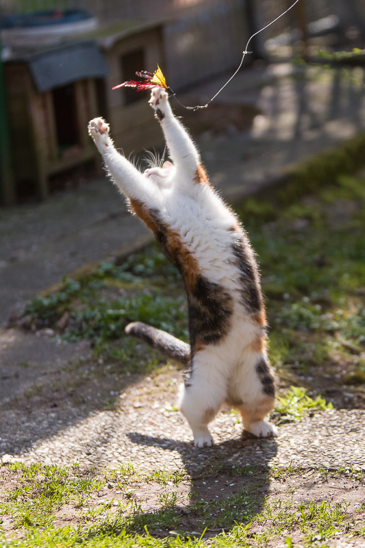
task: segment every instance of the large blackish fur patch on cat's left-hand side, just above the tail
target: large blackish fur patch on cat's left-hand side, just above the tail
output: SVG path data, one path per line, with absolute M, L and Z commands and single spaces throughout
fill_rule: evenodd
M 192 353 L 198 339 L 209 345 L 218 343 L 227 335 L 233 303 L 229 292 L 219 284 L 199 275 L 194 290 L 188 294 L 188 308 Z

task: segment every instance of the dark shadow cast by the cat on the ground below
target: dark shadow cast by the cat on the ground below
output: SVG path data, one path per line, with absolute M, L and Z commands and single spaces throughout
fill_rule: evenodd
M 262 512 L 270 487 L 270 460 L 277 453 L 275 438 L 254 438 L 244 432 L 240 439 L 228 440 L 199 449 L 192 443 L 130 432 L 138 445 L 177 451 L 190 479 L 190 493 L 181 502 L 170 501 L 164 512 L 154 510 L 136 516 L 131 528 L 147 526 L 151 532 L 168 534 L 177 530 L 197 536 L 217 534 L 235 525 L 248 524 Z M 171 488 L 179 492 L 178 484 Z M 166 514 L 167 512 L 167 514 Z M 168 521 L 163 516 L 168 515 Z

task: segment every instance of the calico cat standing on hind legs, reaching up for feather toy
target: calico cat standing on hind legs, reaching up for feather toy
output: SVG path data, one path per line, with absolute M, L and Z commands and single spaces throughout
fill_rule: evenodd
M 275 436 L 264 421 L 275 403 L 275 382 L 255 255 L 236 215 L 210 186 L 166 91 L 153 88 L 149 103 L 172 162 L 141 173 L 116 151 L 103 119 L 88 128 L 114 184 L 184 278 L 190 345 L 143 323 L 127 325 L 126 332 L 188 364 L 180 408 L 195 445 L 212 445 L 207 425 L 224 402 L 240 411 L 249 432 Z

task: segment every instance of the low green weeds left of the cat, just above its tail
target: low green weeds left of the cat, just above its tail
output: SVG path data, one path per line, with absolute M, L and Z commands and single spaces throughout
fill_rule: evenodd
M 125 338 L 124 327 L 130 321 L 152 323 L 188 338 L 184 303 L 177 269 L 151 245 L 119 266 L 101 262 L 84 279 L 64 279 L 60 290 L 29 302 L 25 314 L 38 327 L 55 327 L 64 340 L 91 340 L 97 356 L 105 353 L 127 361 L 131 341 L 122 346 L 110 343 Z M 66 326 L 60 329 L 65 317 Z

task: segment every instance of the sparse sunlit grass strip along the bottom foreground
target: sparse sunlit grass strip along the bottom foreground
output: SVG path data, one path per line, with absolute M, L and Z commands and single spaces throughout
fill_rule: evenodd
M 94 507 L 88 506 L 86 497 L 105 483 L 95 474 L 82 477 L 71 467 L 9 465 L 8 471 L 16 473 L 16 487 L 9 491 L 2 514 L 11 514 L 16 527 L 23 527 L 21 538 L 0 540 L 2 547 L 203 547 L 233 548 L 237 545 L 264 547 L 281 539 L 281 544 L 292 546 L 292 534 L 301 538 L 301 546 L 325 543 L 338 532 L 351 530 L 355 536 L 364 536 L 364 505 L 349 514 L 349 504 L 344 501 L 294 502 L 295 487 L 288 489 L 285 497 L 262 499 L 262 470 L 242 470 L 241 480 L 250 474 L 253 483 L 243 486 L 238 493 L 221 499 L 194 497 L 184 512 L 177 503 L 175 491 L 163 491 L 160 509 L 143 511 L 133 495 L 126 503 L 113 504 L 114 499 Z M 115 473 L 114 473 L 115 472 Z M 116 486 L 116 477 L 127 476 L 131 481 L 130 466 L 108 472 L 108 486 Z M 297 477 L 300 469 L 273 469 L 271 476 L 286 481 Z M 349 470 L 327 471 L 326 479 L 333 481 L 338 475 L 351 477 Z M 128 479 L 129 477 L 129 479 Z M 236 476 L 237 477 L 237 476 Z M 135 478 L 133 479 L 135 481 Z M 149 482 L 151 478 L 140 478 Z M 214 482 L 214 476 L 211 479 Z M 356 481 L 362 477 L 356 476 Z M 31 493 L 33 490 L 33 493 Z M 32 497 L 31 497 L 32 495 Z M 82 501 L 80 502 L 80 499 Z M 261 499 L 261 501 L 260 501 Z M 32 501 L 32 504 L 31 504 Z M 78 513 L 77 523 L 54 527 L 53 514 L 73 501 Z M 30 511 L 29 507 L 33 510 Z M 186 525 L 190 523 L 190 531 Z M 191 529 L 194 523 L 194 529 Z M 168 533 L 169 532 L 169 533 Z M 315 544 L 318 546 L 318 544 Z

